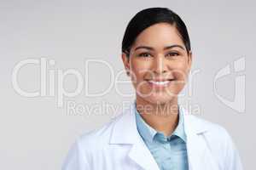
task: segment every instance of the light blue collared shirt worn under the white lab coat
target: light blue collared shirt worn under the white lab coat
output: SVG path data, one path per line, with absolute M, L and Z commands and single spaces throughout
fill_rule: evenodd
M 143 117 L 136 112 L 137 130 L 148 146 L 160 170 L 188 170 L 188 156 L 186 134 L 183 127 L 183 114 L 178 105 L 178 124 L 172 135 L 166 137 L 164 133 L 157 132 Z

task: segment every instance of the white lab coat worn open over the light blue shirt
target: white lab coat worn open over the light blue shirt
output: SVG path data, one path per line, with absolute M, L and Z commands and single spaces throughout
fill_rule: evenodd
M 159 170 L 137 132 L 134 109 L 131 105 L 103 127 L 76 139 L 62 170 Z M 236 146 L 224 127 L 181 109 L 189 170 L 242 170 Z

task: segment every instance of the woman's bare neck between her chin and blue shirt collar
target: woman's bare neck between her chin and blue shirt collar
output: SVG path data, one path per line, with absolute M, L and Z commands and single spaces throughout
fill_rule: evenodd
M 169 136 L 177 127 L 177 98 L 165 104 L 153 104 L 144 99 L 136 99 L 137 111 L 143 120 L 156 131 Z

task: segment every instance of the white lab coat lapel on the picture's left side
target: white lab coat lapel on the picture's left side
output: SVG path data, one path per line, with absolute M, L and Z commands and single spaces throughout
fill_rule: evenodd
M 115 122 L 110 144 L 131 144 L 128 157 L 145 170 L 160 170 L 143 139 L 137 132 L 135 105 L 124 111 Z

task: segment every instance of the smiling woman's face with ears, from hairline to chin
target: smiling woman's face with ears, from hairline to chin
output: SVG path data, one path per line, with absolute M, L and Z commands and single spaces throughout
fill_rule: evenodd
M 141 32 L 122 54 L 137 99 L 164 104 L 177 98 L 187 80 L 192 54 L 186 51 L 175 26 L 159 23 Z

